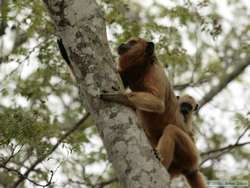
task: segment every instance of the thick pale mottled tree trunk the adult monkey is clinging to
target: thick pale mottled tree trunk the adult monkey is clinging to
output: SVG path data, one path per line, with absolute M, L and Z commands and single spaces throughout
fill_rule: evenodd
M 119 181 L 126 188 L 167 188 L 167 171 L 154 156 L 135 113 L 103 102 L 103 90 L 121 87 L 107 43 L 104 15 L 94 0 L 44 0 L 73 64 L 87 110 Z

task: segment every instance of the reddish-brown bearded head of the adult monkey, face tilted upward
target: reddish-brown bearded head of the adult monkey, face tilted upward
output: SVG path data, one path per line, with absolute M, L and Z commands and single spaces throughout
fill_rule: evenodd
M 118 48 L 119 72 L 124 72 L 134 66 L 144 66 L 153 63 L 154 43 L 141 38 L 131 38 Z

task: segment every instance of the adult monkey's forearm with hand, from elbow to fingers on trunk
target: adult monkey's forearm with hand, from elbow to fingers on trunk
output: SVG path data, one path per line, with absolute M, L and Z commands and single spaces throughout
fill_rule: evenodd
M 163 113 L 165 110 L 164 100 L 148 92 L 104 93 L 101 98 L 147 112 Z

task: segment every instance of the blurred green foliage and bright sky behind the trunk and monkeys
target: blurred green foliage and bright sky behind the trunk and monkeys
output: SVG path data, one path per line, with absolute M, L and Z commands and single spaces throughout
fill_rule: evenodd
M 155 41 L 176 92 L 200 100 L 195 122 L 207 178 L 249 181 L 249 3 L 140 2 L 98 2 L 111 49 L 131 36 Z M 23 187 L 119 187 L 44 4 L 0 4 L 0 186 L 21 179 Z

